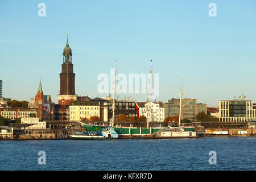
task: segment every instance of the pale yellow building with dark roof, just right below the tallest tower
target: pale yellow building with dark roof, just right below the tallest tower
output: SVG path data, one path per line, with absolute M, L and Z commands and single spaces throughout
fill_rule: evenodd
M 72 101 L 69 106 L 69 119 L 71 121 L 81 121 L 82 118 L 90 119 L 93 116 L 101 118 L 100 102 Z

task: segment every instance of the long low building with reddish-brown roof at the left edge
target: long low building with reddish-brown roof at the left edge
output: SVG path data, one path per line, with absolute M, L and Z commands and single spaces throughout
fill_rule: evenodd
M 37 115 L 36 108 L 3 108 L 0 109 L 1 116 L 11 120 L 17 118 L 30 118 L 30 114 Z

